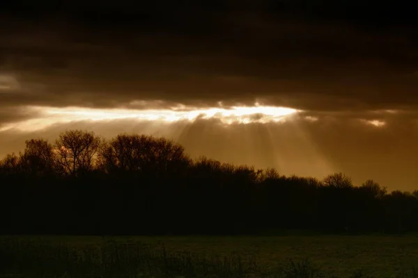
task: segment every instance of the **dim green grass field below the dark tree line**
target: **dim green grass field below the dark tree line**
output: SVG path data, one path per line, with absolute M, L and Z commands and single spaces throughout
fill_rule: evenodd
M 418 277 L 418 236 L 3 236 L 0 241 L 0 277 L 140 277 L 140 268 L 153 270 L 142 277 L 197 277 L 203 271 L 208 277 Z M 305 268 L 318 272 L 302 273 Z

